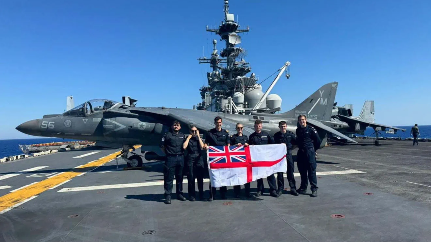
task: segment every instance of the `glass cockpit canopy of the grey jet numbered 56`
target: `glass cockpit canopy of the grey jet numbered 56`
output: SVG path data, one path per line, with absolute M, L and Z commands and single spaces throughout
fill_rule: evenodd
M 112 109 L 117 106 L 120 102 L 115 102 L 108 99 L 93 99 L 84 102 L 81 105 L 76 106 L 73 109 L 65 112 L 63 115 L 67 116 L 87 116 L 96 112 L 100 112 L 107 109 Z

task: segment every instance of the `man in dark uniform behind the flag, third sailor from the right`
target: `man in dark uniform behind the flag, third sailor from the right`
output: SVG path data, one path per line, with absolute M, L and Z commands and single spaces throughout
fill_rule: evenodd
M 256 121 L 254 121 L 254 130 L 255 132 L 250 134 L 250 137 L 248 138 L 249 145 L 267 145 L 274 143 L 274 140 L 272 140 L 272 137 L 269 135 L 269 133 L 262 131 L 262 121 L 260 119 L 256 119 Z M 268 180 L 269 194 L 271 194 L 273 197 L 278 198 L 279 195 L 276 192 L 277 184 L 275 181 L 274 174 L 269 177 L 266 177 L 266 179 Z M 263 178 L 260 178 L 257 180 L 256 197 L 261 196 L 264 191 L 265 187 L 263 186 Z

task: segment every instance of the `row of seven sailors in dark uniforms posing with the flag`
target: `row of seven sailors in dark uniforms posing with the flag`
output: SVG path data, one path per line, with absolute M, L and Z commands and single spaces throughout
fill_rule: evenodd
M 305 115 L 298 116 L 298 127 L 296 134 L 287 130 L 287 123 L 280 121 L 278 127 L 280 131 L 274 134 L 274 137 L 262 130 L 262 121 L 257 119 L 254 123 L 255 132 L 247 137 L 243 133 L 243 124 L 236 124 L 237 133 L 230 136 L 228 130 L 222 129 L 223 120 L 221 117 L 214 118 L 215 127 L 208 130 L 205 142 L 200 137 L 197 127 L 190 126 L 190 134 L 185 135 L 179 130 L 181 124 L 178 121 L 172 123 L 171 130 L 162 137 L 160 148 L 166 154 L 166 161 L 163 170 L 163 180 L 165 189 L 165 203 L 171 204 L 172 187 L 175 176 L 176 195 L 180 201 L 187 200 L 183 195 L 183 172 L 187 172 L 187 189 L 190 201 L 196 201 L 195 180 L 197 180 L 199 199 L 204 199 L 203 177 L 206 174 L 205 163 L 201 150 L 208 150 L 208 146 L 253 146 L 266 144 L 282 144 L 287 148 L 287 181 L 290 186 L 290 194 L 299 195 L 306 193 L 308 182 L 311 185 L 311 197 L 317 196 L 317 177 L 316 177 L 316 159 L 315 150 L 320 146 L 321 140 L 317 131 L 307 125 Z M 296 187 L 294 179 L 294 161 L 292 158 L 292 149 L 298 146 L 297 167 L 301 175 L 301 184 L 299 189 Z M 184 156 L 184 151 L 186 155 Z M 266 177 L 269 185 L 269 194 L 273 197 L 279 197 L 284 191 L 284 174 L 277 173 L 277 179 L 272 174 Z M 250 198 L 250 183 L 244 184 L 245 196 Z M 240 197 L 241 186 L 234 186 L 235 198 Z M 219 188 L 221 199 L 226 199 L 227 187 Z M 263 178 L 257 180 L 257 192 L 255 196 L 261 196 L 265 192 Z M 208 201 L 215 199 L 216 188 L 209 183 Z

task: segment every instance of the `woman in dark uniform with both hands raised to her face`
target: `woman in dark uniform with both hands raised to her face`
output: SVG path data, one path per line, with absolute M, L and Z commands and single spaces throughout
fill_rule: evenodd
M 203 149 L 203 142 L 199 136 L 199 130 L 194 125 L 190 126 L 190 134 L 186 141 L 184 141 L 183 149 L 187 150 L 186 164 L 187 164 L 187 192 L 189 193 L 189 200 L 196 201 L 196 188 L 194 181 L 197 178 L 197 189 L 199 190 L 199 199 L 203 200 L 203 159 L 200 150 Z

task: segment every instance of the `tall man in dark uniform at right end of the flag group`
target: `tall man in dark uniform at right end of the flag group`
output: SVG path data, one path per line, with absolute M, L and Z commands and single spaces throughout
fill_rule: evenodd
M 297 128 L 297 165 L 299 173 L 301 174 L 301 186 L 297 190 L 299 193 L 307 192 L 308 180 L 311 186 L 311 196 L 317 197 L 317 177 L 316 177 L 316 156 L 315 151 L 320 147 L 320 137 L 317 131 L 307 125 L 307 117 L 305 115 L 298 116 Z M 308 180 L 307 180 L 308 176 Z

